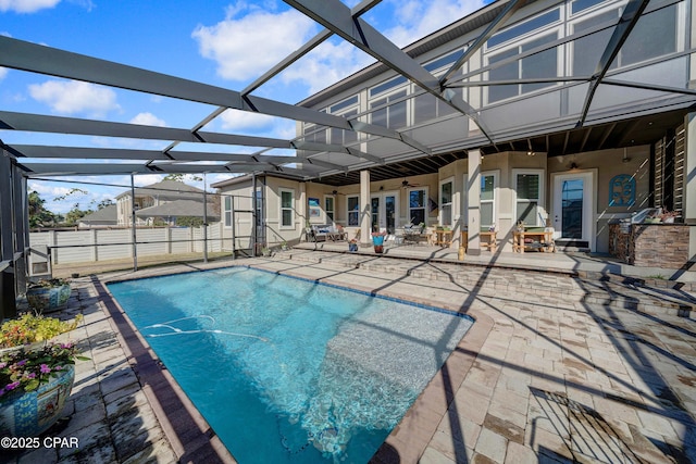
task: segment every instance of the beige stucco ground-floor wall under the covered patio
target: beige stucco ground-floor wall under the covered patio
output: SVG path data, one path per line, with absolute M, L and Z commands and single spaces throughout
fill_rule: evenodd
M 625 159 L 625 162 L 624 162 Z M 609 229 L 608 222 L 616 218 L 627 217 L 632 212 L 641 211 L 649 205 L 649 159 L 650 148 L 632 147 L 624 150 L 601 150 L 596 152 L 587 152 L 581 154 L 551 156 L 546 153 L 536 152 L 530 154 L 527 152 L 502 152 L 496 154 L 487 154 L 483 156 L 481 171 L 482 173 L 493 172 L 497 175 L 498 187 L 496 195 L 495 221 L 498 230 L 499 246 L 502 251 L 511 251 L 512 249 L 512 231 L 517 222 L 515 217 L 515 192 L 513 173 L 515 170 L 543 170 L 545 172 L 544 196 L 542 201 L 540 213 L 543 217 L 552 217 L 554 214 L 554 175 L 559 173 L 583 173 L 592 172 L 595 175 L 596 200 L 594 204 L 595 226 L 595 250 L 598 252 L 608 252 L 609 250 Z M 576 164 L 576 168 L 570 171 L 572 163 Z M 465 201 L 465 181 L 468 173 L 467 160 L 458 160 L 439 170 L 437 174 L 428 174 L 421 176 L 408 177 L 411 185 L 418 188 L 425 188 L 427 198 L 434 200 L 439 206 L 439 186 L 442 181 L 453 180 L 455 192 L 452 197 L 452 228 L 453 243 L 452 247 L 459 246 L 459 231 L 462 229 L 467 220 L 467 201 Z M 609 206 L 609 183 L 619 174 L 633 175 L 636 179 L 636 201 L 633 206 Z M 409 223 L 408 217 L 408 192 L 409 188 L 403 188 L 403 178 L 397 177 L 388 180 L 371 181 L 370 192 L 374 195 L 396 195 L 398 196 L 399 214 L 397 226 L 403 226 Z M 349 237 L 353 237 L 359 227 L 348 227 L 347 198 L 350 196 L 360 196 L 360 186 L 351 185 L 345 187 L 334 187 L 320 183 L 298 183 L 295 180 L 282 179 L 276 177 L 260 177 L 258 186 L 264 189 L 266 199 L 265 224 L 268 243 L 275 246 L 283 240 L 290 243 L 303 239 L 303 229 L 307 222 L 310 224 L 327 224 L 328 221 L 324 211 L 325 198 L 335 195 L 335 221 L 334 224 L 344 226 Z M 293 226 L 282 228 L 281 223 L 281 204 L 279 189 L 288 189 L 293 191 L 295 199 L 295 221 Z M 243 198 L 235 200 L 235 209 L 251 209 L 251 184 L 250 181 L 236 184 L 222 189 L 222 193 L 238 195 Z M 321 216 L 309 218 L 308 200 L 316 198 L 320 200 Z M 361 210 L 363 206 L 361 205 Z M 430 209 L 428 209 L 430 210 Z M 439 208 L 428 211 L 427 225 L 435 226 L 440 224 Z M 251 235 L 251 216 L 237 215 L 236 234 L 238 236 Z M 225 236 L 231 236 L 231 228 L 225 228 Z M 248 241 L 245 242 L 248 244 Z M 243 246 L 243 241 L 237 243 Z

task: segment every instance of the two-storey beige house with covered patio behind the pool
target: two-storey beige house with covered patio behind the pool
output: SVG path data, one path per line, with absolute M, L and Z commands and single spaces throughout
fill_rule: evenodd
M 696 87 L 687 45 L 696 20 L 683 4 L 666 3 L 646 12 L 625 42 L 617 41 L 612 32 L 625 5 L 533 2 L 477 43 L 505 7 L 495 2 L 405 49 L 436 78 L 456 77 L 446 91 L 472 106 L 469 117 L 382 63 L 308 98 L 300 105 L 384 126 L 425 142 L 431 152 L 412 159 L 410 148 L 385 137 L 300 123 L 298 146 L 335 143 L 353 152 L 300 151 L 316 165 L 335 166 L 319 178 L 256 174 L 213 185 L 223 196 L 227 236 L 233 226 L 235 237 L 253 235 L 250 214 L 241 212 L 251 211 L 252 195 L 258 242 L 298 240 L 307 224 L 336 223 L 349 236 L 360 230 L 365 242 L 373 226 L 390 234 L 425 223 L 451 227 L 451 247 L 468 230 L 474 253 L 476 231 L 492 227 L 500 250 L 511 251 L 520 222 L 554 227 L 559 243 L 608 252 L 610 221 L 650 205 L 682 211 L 686 196 L 696 197 L 683 172 L 694 133 L 684 129 L 693 91 L 657 89 L 684 89 L 689 79 L 686 87 Z M 480 47 L 469 50 L 474 45 Z M 450 72 L 462 58 L 463 66 Z M 613 61 L 605 63 L 608 58 Z M 612 86 L 589 98 L 589 85 L 573 77 L 602 67 Z M 576 127 L 581 118 L 584 125 Z M 512 141 L 496 143 L 486 131 Z M 360 167 L 377 158 L 389 163 Z

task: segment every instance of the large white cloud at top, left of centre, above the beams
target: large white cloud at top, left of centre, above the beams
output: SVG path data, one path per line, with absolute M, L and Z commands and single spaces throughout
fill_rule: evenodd
M 217 63 L 220 76 L 247 80 L 278 63 L 316 30 L 315 23 L 298 11 L 273 13 L 238 2 L 227 10 L 225 21 L 199 25 L 191 36 L 200 53 Z

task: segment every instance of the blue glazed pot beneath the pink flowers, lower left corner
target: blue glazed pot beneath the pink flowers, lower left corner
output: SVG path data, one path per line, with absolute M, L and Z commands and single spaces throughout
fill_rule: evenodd
M 67 365 L 47 384 L 28 392 L 0 398 L 0 436 L 38 437 L 61 417 L 75 380 L 75 366 Z

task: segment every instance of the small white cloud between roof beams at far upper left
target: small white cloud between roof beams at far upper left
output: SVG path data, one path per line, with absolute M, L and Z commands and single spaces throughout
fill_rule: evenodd
M 47 80 L 44 84 L 33 84 L 29 86 L 29 95 L 61 114 L 88 113 L 98 117 L 111 110 L 120 109 L 113 90 L 78 80 Z

